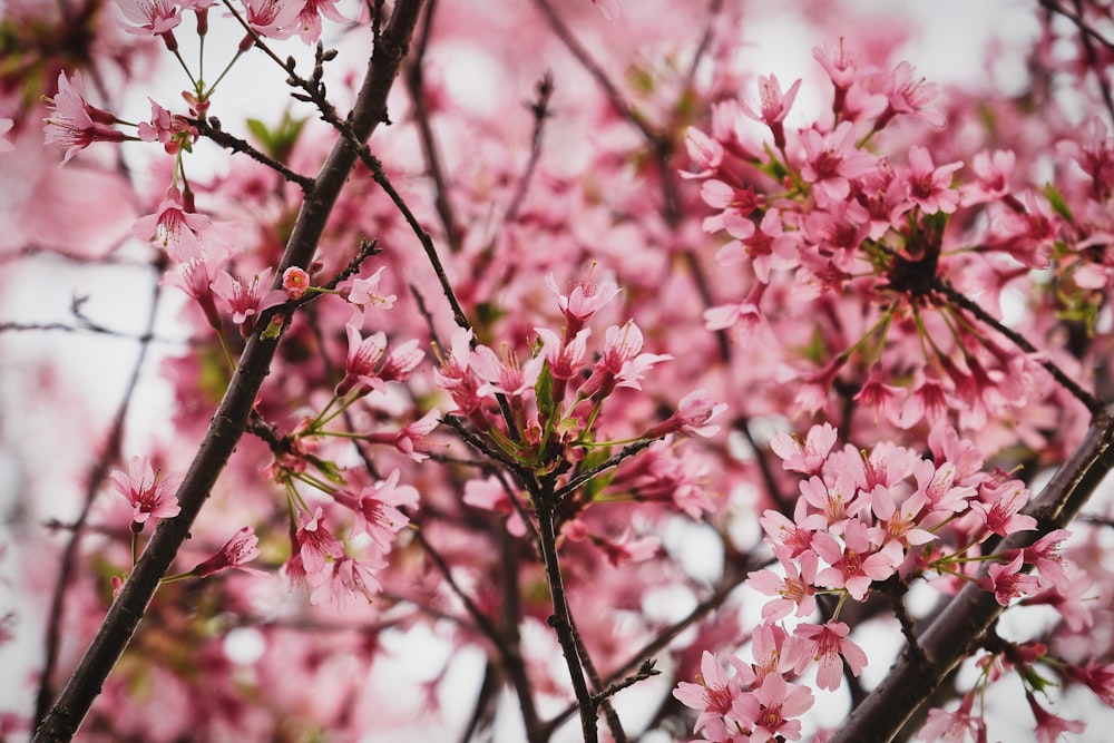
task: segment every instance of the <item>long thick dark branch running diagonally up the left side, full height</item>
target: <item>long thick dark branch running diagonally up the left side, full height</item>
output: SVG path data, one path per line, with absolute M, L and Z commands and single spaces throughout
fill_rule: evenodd
M 388 29 L 375 45 L 350 117 L 352 130 L 361 139 L 370 137 L 375 126 L 387 118 L 387 94 L 405 56 L 421 4 L 422 0 L 400 0 Z M 309 264 L 325 221 L 355 162 L 354 147 L 344 138 L 339 139 L 313 188 L 306 194 L 276 275 L 281 276 L 289 266 L 304 267 Z M 243 434 L 277 344 L 278 339 L 263 340 L 260 335 L 248 340 L 228 390 L 178 489 L 182 512 L 176 518 L 162 521 L 155 530 L 119 597 L 109 608 L 100 630 L 39 726 L 33 743 L 70 740 L 88 714 L 109 672 L 135 634 L 159 579 L 189 535 L 190 525 Z

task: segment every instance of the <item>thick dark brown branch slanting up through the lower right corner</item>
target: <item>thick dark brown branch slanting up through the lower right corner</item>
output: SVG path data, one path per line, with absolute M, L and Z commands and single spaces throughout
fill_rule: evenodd
M 1114 469 L 1114 405 L 1096 416 L 1083 442 L 1045 486 L 1026 512 L 1039 527 L 1006 539 L 1000 549 L 1026 547 L 1067 526 L 1095 487 Z M 985 570 L 984 570 L 985 574 Z M 907 653 L 886 680 L 851 713 L 832 743 L 885 743 L 893 739 L 921 702 L 970 653 L 1003 612 L 994 595 L 968 584 L 919 638 L 920 653 Z

